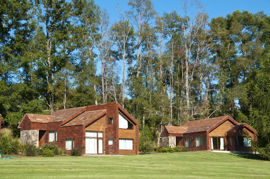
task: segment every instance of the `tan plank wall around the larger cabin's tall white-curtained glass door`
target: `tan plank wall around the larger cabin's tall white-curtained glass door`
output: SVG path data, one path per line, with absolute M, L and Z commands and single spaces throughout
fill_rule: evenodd
M 103 132 L 103 154 L 106 154 L 106 144 L 108 145 L 108 143 L 105 143 L 106 141 L 106 126 L 107 126 L 107 117 L 103 116 L 101 118 L 99 118 L 98 120 L 96 120 L 95 122 L 93 122 L 92 124 L 88 125 L 85 127 L 85 131 L 96 131 L 96 132 Z M 84 133 L 85 136 L 85 133 Z M 83 141 L 85 146 L 85 140 Z M 85 147 L 83 149 L 83 153 L 85 154 Z

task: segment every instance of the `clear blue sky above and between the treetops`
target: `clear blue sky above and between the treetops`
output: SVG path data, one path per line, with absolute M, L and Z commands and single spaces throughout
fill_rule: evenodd
M 95 2 L 102 8 L 107 9 L 110 14 L 110 22 L 118 21 L 118 3 L 123 11 L 129 9 L 128 0 L 95 0 Z M 182 14 L 180 0 L 152 0 L 154 7 L 159 15 L 163 12 L 170 13 L 173 10 L 177 10 L 179 14 Z M 248 10 L 251 13 L 257 13 L 258 11 L 264 11 L 265 14 L 270 15 L 270 0 L 204 0 L 201 3 L 205 7 L 205 12 L 208 13 L 209 19 L 218 16 L 226 16 L 228 13 L 232 13 L 234 10 Z M 95 51 L 97 52 L 97 51 Z M 121 67 L 122 65 L 119 64 Z M 97 73 L 101 73 L 101 63 L 98 60 Z M 121 75 L 120 79 L 122 81 Z

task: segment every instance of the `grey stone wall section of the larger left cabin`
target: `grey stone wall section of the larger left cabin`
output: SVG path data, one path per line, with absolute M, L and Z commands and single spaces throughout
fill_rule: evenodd
M 38 147 L 38 130 L 22 130 L 20 142 L 34 143 Z

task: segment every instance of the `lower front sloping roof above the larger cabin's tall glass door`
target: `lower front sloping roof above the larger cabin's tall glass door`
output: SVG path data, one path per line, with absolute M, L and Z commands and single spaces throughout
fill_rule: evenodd
M 87 123 L 91 123 L 97 118 L 103 116 L 106 113 L 106 109 L 104 110 L 98 110 L 98 111 L 88 111 L 84 112 L 81 115 L 75 117 L 73 120 L 67 122 L 61 127 L 66 127 L 66 126 L 77 126 L 77 125 L 83 125 Z

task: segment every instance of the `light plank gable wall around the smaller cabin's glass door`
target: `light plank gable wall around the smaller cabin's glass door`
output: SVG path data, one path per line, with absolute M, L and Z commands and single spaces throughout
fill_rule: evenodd
M 223 122 L 222 124 L 220 124 L 220 126 L 218 126 L 217 128 L 215 128 L 214 130 L 212 130 L 211 132 L 209 132 L 209 150 L 211 150 L 211 137 L 223 137 L 224 138 L 224 150 L 229 150 L 228 146 L 229 146 L 229 138 L 227 136 L 227 131 L 230 130 L 233 126 L 235 126 L 232 122 L 230 122 L 229 120 L 226 120 L 225 122 Z

